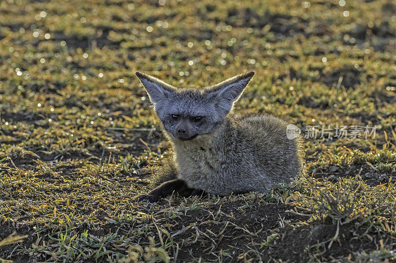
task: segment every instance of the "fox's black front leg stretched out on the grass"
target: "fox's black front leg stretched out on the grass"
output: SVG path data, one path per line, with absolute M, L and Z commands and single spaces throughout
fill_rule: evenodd
M 157 202 L 161 198 L 171 195 L 173 192 L 178 193 L 180 196 L 191 196 L 204 194 L 204 191 L 190 188 L 187 183 L 181 179 L 175 179 L 164 182 L 157 188 L 151 190 L 148 194 L 139 196 L 138 201 L 148 201 L 150 203 Z

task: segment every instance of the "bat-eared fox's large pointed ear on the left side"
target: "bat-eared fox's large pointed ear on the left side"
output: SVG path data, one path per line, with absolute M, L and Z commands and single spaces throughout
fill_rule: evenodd
M 168 99 L 169 96 L 176 91 L 175 87 L 146 73 L 137 71 L 135 74 L 145 87 L 152 103 L 158 103 L 161 100 Z

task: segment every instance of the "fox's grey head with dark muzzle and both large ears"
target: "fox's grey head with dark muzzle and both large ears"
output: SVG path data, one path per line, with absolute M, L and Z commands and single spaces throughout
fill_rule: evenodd
M 163 128 L 176 140 L 192 140 L 215 131 L 253 75 L 254 72 L 248 72 L 215 86 L 198 89 L 175 88 L 147 74 L 136 72 Z

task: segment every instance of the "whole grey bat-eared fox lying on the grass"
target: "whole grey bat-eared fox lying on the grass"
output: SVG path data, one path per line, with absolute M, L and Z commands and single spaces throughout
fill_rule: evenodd
M 264 192 L 302 173 L 302 139 L 287 138 L 287 122 L 271 115 L 232 114 L 254 72 L 204 89 L 174 88 L 147 74 L 136 75 L 172 144 L 178 172 L 177 183 L 142 199 L 157 201 L 178 191 L 165 193 L 165 188 L 184 184 L 191 191 L 219 195 Z

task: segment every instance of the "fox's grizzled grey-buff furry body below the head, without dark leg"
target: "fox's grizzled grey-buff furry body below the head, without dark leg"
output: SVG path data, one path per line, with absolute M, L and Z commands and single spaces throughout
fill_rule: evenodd
M 179 178 L 191 188 L 227 195 L 264 192 L 300 171 L 299 141 L 270 115 L 230 115 L 218 131 L 173 142 Z

